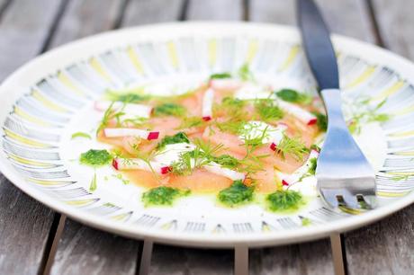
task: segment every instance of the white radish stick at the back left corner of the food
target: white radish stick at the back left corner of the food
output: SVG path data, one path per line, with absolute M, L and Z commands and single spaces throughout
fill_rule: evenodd
M 112 102 L 109 101 L 97 101 L 94 102 L 94 109 L 96 111 L 106 111 Z M 122 111 L 126 116 L 149 118 L 151 115 L 152 107 L 135 103 L 113 102 L 113 111 Z

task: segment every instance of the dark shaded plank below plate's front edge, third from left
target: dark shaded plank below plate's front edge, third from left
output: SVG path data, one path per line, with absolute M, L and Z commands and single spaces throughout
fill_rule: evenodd
M 233 251 L 154 245 L 151 275 L 232 274 Z M 252 273 L 255 274 L 255 273 Z

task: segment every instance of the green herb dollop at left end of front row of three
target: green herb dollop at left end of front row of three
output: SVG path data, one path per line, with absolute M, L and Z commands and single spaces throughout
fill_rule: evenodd
M 144 192 L 141 200 L 146 207 L 171 206 L 176 199 L 188 194 L 190 194 L 190 191 L 180 191 L 176 188 L 160 186 Z

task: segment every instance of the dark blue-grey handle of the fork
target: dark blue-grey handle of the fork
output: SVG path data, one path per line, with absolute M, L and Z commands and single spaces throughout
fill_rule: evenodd
M 313 0 L 298 0 L 302 44 L 320 91 L 339 88 L 338 64 L 329 29 Z

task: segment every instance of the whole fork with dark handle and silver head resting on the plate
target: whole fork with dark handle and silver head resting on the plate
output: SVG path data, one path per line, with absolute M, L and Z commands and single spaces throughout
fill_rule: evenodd
M 318 191 L 333 208 L 374 208 L 374 169 L 347 129 L 328 27 L 313 0 L 298 0 L 297 7 L 306 58 L 328 115 L 328 130 L 316 168 Z

